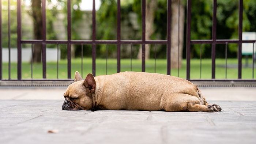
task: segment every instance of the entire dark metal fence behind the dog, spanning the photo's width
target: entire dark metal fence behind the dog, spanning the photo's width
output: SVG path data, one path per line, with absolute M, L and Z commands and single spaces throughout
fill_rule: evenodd
M 1 3 L 1 0 L 0 0 Z M 79 45 L 92 45 L 92 73 L 95 75 L 96 71 L 96 45 L 116 45 L 117 47 L 117 72 L 121 71 L 121 45 L 141 45 L 142 46 L 142 72 L 145 72 L 145 45 L 166 45 L 166 63 L 167 63 L 167 75 L 171 74 L 171 7 L 172 1 L 167 0 L 167 35 L 166 40 L 146 40 L 145 38 L 145 26 L 146 26 L 146 0 L 142 0 L 141 10 L 142 10 L 142 38 L 141 40 L 122 40 L 121 39 L 121 4 L 120 0 L 117 0 L 117 39 L 116 40 L 97 40 L 96 39 L 96 10 L 95 10 L 95 0 L 93 0 L 93 10 L 92 10 L 92 39 L 91 40 L 72 40 L 71 39 L 71 0 L 67 0 L 67 40 L 48 40 L 46 39 L 46 0 L 42 0 L 42 31 L 43 38 L 39 40 L 22 39 L 22 12 L 21 12 L 21 0 L 17 1 L 17 45 L 18 45 L 18 59 L 17 59 L 17 79 L 11 79 L 9 73 L 9 79 L 3 79 L 2 77 L 2 58 L 0 58 L 0 86 L 67 86 L 72 82 L 71 78 L 71 45 L 79 44 Z M 180 3 L 180 0 L 179 0 Z M 255 43 L 255 40 L 242 40 L 242 13 L 243 13 L 243 0 L 239 0 L 239 39 L 217 39 L 216 38 L 216 11 L 217 11 L 217 0 L 213 0 L 213 18 L 212 18 L 212 39 L 208 40 L 191 40 L 191 0 L 187 0 L 187 45 L 186 45 L 186 55 L 187 55 L 187 74 L 186 77 L 188 80 L 193 83 L 198 84 L 199 86 L 256 86 L 256 80 L 254 79 L 254 61 L 252 64 L 252 79 L 241 79 L 242 73 L 242 52 L 241 46 L 242 43 Z M 1 7 L 0 7 L 0 27 L 1 26 Z M 9 8 L 10 13 L 10 8 Z M 10 18 L 9 18 L 10 19 Z M 8 23 L 9 34 L 8 37 L 10 39 L 10 23 Z M 2 33 L 0 29 L 0 33 Z M 0 39 L 2 39 L 0 35 Z M 10 42 L 10 40 L 9 40 Z M 237 43 L 238 44 L 238 77 L 237 79 L 215 79 L 215 55 L 216 49 L 215 46 L 217 44 L 225 44 L 226 49 L 229 43 Z M 22 44 L 31 44 L 33 48 L 34 44 L 42 45 L 42 79 L 22 79 Z M 48 79 L 46 77 L 46 44 L 56 44 L 59 49 L 59 45 L 65 44 L 67 45 L 67 79 Z M 211 44 L 211 57 L 212 57 L 212 71 L 211 71 L 211 79 L 191 79 L 191 45 L 193 44 Z M 0 45 L 1 41 L 0 41 Z M 253 48 L 254 50 L 255 48 Z M 254 54 L 254 53 L 253 53 Z M 226 54 L 227 55 L 227 54 Z M 0 56 L 2 56 L 2 47 L 0 47 Z M 227 60 L 227 57 L 226 57 Z M 200 58 L 201 61 L 201 58 Z M 58 62 L 57 62 L 58 63 Z M 10 47 L 9 47 L 9 64 L 10 64 Z M 200 63 L 200 74 L 201 74 L 201 63 Z M 33 69 L 33 64 L 31 64 L 31 70 Z M 83 69 L 83 63 L 81 65 Z M 225 65 L 227 69 L 227 63 Z M 10 65 L 8 67 L 10 69 Z M 58 71 L 58 64 L 57 64 Z M 9 70 L 10 72 L 10 70 Z M 33 72 L 31 72 L 32 75 Z M 57 72 L 58 73 L 58 72 Z M 227 75 L 227 73 L 225 73 Z M 31 76 L 32 77 L 32 76 Z

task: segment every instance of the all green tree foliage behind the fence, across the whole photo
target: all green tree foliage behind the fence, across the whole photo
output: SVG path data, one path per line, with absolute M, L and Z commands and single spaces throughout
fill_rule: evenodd
M 8 47 L 8 11 L 7 0 L 2 0 L 2 46 Z M 11 47 L 17 46 L 17 22 L 16 22 L 16 5 L 17 1 L 10 0 L 10 29 L 11 29 Z M 48 4 L 51 1 L 48 0 Z M 81 39 L 77 33 L 75 33 L 78 23 L 82 20 L 83 11 L 79 10 L 79 3 L 81 0 L 71 1 L 71 38 Z M 192 0 L 191 11 L 191 39 L 211 39 L 212 37 L 212 0 Z M 101 0 L 101 7 L 96 12 L 96 37 L 98 40 L 113 40 L 117 38 L 117 1 L 116 0 Z M 186 5 L 186 0 L 181 0 L 181 4 Z M 61 5 L 62 10 L 57 7 Z M 74 5 L 78 8 L 74 9 Z M 158 0 L 158 9 L 155 12 L 154 19 L 154 31 L 151 39 L 166 39 L 166 17 L 167 17 L 167 0 Z M 218 0 L 217 1 L 217 39 L 238 39 L 238 0 Z M 256 1 L 255 0 L 243 0 L 244 12 L 243 12 L 243 31 L 256 31 Z M 30 10 L 25 10 L 22 5 L 22 14 L 30 13 Z M 127 26 L 131 31 L 128 33 L 121 33 L 122 35 L 129 35 L 129 39 L 140 39 L 142 33 L 142 18 L 141 18 L 141 0 L 121 0 L 121 23 L 129 17 L 129 12 L 137 14 L 139 29 L 132 29 L 131 23 Z M 56 21 L 56 16 L 59 13 L 63 13 L 67 16 L 67 0 L 58 0 L 58 3 L 52 7 L 52 9 L 46 10 L 46 28 L 47 39 L 57 39 L 57 33 L 53 31 L 53 22 Z M 186 18 L 186 17 L 185 17 Z M 185 20 L 186 21 L 186 20 Z M 64 18 L 63 23 L 67 27 L 67 18 Z M 22 25 L 22 30 L 26 31 L 31 26 Z M 122 31 L 122 27 L 121 27 Z M 186 30 L 184 31 L 186 35 Z M 185 36 L 184 36 L 185 38 Z M 22 39 L 30 39 L 26 35 L 22 35 Z M 184 41 L 185 43 L 185 41 Z M 185 44 L 184 44 L 185 45 Z M 138 45 L 137 45 L 138 46 Z M 56 45 L 48 45 L 48 47 L 56 48 Z M 134 46 L 134 50 L 138 48 Z M 59 45 L 61 48 L 62 58 L 67 55 L 66 45 Z M 91 45 L 84 45 L 84 49 L 87 51 L 84 53 L 89 56 L 91 54 Z M 81 45 L 76 45 L 76 56 L 80 56 Z M 151 57 L 154 57 L 154 45 L 151 46 Z M 126 52 L 122 50 L 122 52 Z M 97 45 L 97 57 L 105 57 L 106 45 Z M 116 54 L 116 45 L 108 45 L 108 54 L 114 57 Z M 135 52 L 133 52 L 135 53 Z M 166 57 L 166 45 L 157 46 L 157 56 L 161 58 Z M 198 58 L 200 56 L 200 45 L 192 45 L 191 47 L 192 58 Z M 134 54 L 136 55 L 136 54 Z M 217 45 L 217 57 L 223 58 L 225 56 L 225 45 Z M 237 44 L 228 45 L 228 56 L 237 57 Z M 202 45 L 202 57 L 211 57 L 211 45 Z M 185 49 L 184 49 L 185 58 Z

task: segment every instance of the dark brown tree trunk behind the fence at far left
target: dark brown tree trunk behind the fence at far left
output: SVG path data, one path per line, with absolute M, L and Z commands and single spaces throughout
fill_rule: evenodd
M 33 17 L 33 25 L 34 25 L 34 39 L 42 39 L 42 8 L 41 8 L 41 0 L 31 0 L 31 8 L 32 8 L 32 17 Z M 42 54 L 42 45 L 35 44 L 33 46 L 33 62 L 39 63 L 41 62 L 41 54 Z

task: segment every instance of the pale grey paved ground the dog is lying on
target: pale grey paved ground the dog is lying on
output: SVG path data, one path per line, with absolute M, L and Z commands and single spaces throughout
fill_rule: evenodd
M 218 113 L 63 111 L 66 87 L 0 88 L 0 143 L 254 144 L 255 87 L 202 87 Z

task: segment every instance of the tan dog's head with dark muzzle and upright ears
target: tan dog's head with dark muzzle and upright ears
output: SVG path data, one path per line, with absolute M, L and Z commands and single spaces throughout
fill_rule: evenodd
M 93 109 L 93 97 L 96 82 L 91 73 L 86 78 L 75 73 L 74 83 L 70 84 L 64 93 L 62 110 L 91 110 Z

